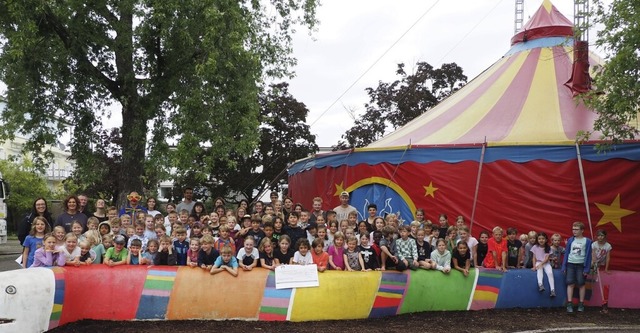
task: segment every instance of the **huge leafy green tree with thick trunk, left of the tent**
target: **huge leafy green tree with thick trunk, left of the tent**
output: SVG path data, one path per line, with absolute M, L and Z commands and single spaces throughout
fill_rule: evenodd
M 120 199 L 142 190 L 145 171 L 188 170 L 196 157 L 213 165 L 232 152 L 248 154 L 258 142 L 261 82 L 290 74 L 291 34 L 316 23 L 316 6 L 315 0 L 2 1 L 0 80 L 8 86 L 8 107 L 0 139 L 29 133 L 26 149 L 46 158 L 44 147 L 70 126 L 72 157 L 89 159 L 115 105 L 122 115 Z

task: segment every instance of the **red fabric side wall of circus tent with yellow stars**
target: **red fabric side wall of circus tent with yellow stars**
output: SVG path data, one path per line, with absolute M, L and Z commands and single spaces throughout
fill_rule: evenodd
M 405 203 L 423 208 L 431 221 L 436 222 L 438 214 L 446 213 L 451 224 L 457 215 L 464 216 L 469 224 L 479 166 L 478 161 L 404 162 L 399 167 L 386 162 L 351 166 L 345 163 L 293 173 L 289 189 L 295 202 L 309 208 L 313 197 L 322 197 L 323 209 L 327 210 L 339 205 L 341 189 L 355 193 L 377 182 L 404 191 Z M 583 160 L 583 167 L 593 230 L 607 230 L 614 248 L 611 267 L 640 270 L 640 260 L 635 255 L 640 238 L 640 162 L 624 158 Z M 437 188 L 432 190 L 433 196 L 425 188 L 430 183 Z M 363 209 L 356 207 L 364 215 Z M 406 218 L 405 223 L 412 219 Z M 576 158 L 563 162 L 496 160 L 483 164 L 472 225 L 474 236 L 499 225 L 515 227 L 519 233 L 559 233 L 564 244 L 574 221 L 584 222 L 586 234 L 591 237 Z

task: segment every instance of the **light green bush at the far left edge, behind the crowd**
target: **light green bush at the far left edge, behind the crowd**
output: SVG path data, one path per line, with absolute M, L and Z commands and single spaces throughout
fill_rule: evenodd
M 0 161 L 0 173 L 10 187 L 7 206 L 14 219 L 22 218 L 30 211 L 35 198 L 51 198 L 47 181 L 35 172 L 33 163 L 27 159 L 22 164 Z

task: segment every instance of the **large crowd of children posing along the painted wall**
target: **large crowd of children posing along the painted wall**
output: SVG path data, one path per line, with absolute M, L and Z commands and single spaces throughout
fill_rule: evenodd
M 578 311 L 582 311 L 584 274 L 594 267 L 608 271 L 610 262 L 606 231 L 598 230 L 597 241 L 591 242 L 582 236 L 580 222 L 573 224 L 574 236 L 565 253 L 559 234 L 549 239 L 544 232 L 531 231 L 518 237 L 516 229 L 508 228 L 505 238 L 503 229 L 495 227 L 493 237 L 482 231 L 476 239 L 464 218 L 450 226 L 445 214 L 437 225 L 428 220 L 398 225 L 394 214 L 357 222 L 356 212 L 337 221 L 336 213 L 329 211 L 309 221 L 311 214 L 303 210 L 291 211 L 285 223 L 282 215 L 266 212 L 240 219 L 233 210 L 224 215 L 170 210 L 166 217 L 146 213 L 118 217 L 117 209 L 110 207 L 108 221 L 89 218 L 86 232 L 82 224 L 72 223 L 69 233 L 61 226 L 49 230 L 49 221 L 38 217 L 24 241 L 23 265 L 179 265 L 233 276 L 238 270 L 273 270 L 282 264 L 316 264 L 321 272 L 457 270 L 464 276 L 472 267 L 528 268 L 537 272 L 540 292 L 545 291 L 546 274 L 551 297 L 556 295 L 552 269 L 562 268 L 567 272 L 568 294 L 576 284 L 580 288 Z

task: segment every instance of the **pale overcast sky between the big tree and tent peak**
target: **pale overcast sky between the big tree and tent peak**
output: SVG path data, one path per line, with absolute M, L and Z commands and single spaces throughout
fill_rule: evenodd
M 552 2 L 573 20 L 573 0 Z M 406 70 L 411 71 L 418 61 L 434 67 L 455 62 L 471 80 L 509 50 L 514 32 L 514 0 L 323 0 L 322 3 L 317 31 L 309 36 L 306 29 L 299 29 L 294 36 L 298 65 L 297 76 L 290 81 L 291 94 L 311 111 L 307 122 L 312 124 L 311 132 L 321 147 L 336 144 L 353 125 L 347 110 L 355 110 L 356 116 L 363 112 L 367 102 L 365 88 L 376 87 L 380 80 L 396 79 L 398 63 L 405 63 Z M 542 0 L 524 3 L 526 23 Z M 593 40 L 595 32 L 590 34 Z M 0 82 L 0 94 L 5 89 Z M 108 126 L 121 123 L 119 111 L 114 110 Z

